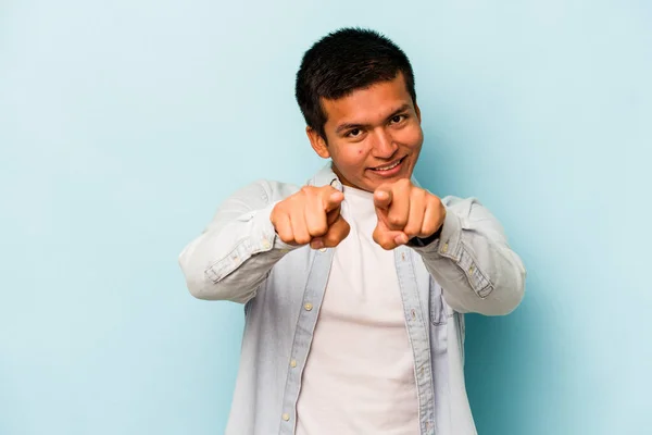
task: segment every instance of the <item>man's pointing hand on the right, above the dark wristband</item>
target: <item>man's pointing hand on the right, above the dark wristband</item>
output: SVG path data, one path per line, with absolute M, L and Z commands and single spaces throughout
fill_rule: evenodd
M 374 206 L 378 216 L 374 241 L 388 250 L 405 245 L 413 237 L 431 236 L 446 217 L 441 200 L 408 178 L 376 188 Z

